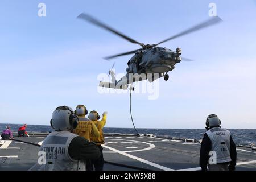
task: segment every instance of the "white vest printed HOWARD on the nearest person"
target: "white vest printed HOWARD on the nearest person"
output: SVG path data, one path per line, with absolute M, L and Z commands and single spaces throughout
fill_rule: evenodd
M 44 171 L 85 171 L 83 160 L 73 160 L 68 154 L 68 147 L 72 139 L 78 135 L 69 131 L 53 131 L 49 134 L 40 151 L 46 152 L 46 164 L 40 170 Z

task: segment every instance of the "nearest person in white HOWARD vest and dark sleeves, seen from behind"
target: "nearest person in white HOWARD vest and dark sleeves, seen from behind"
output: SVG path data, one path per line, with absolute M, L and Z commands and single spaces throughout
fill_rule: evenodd
M 100 157 L 96 144 L 70 132 L 77 127 L 78 120 L 70 107 L 56 108 L 51 119 L 55 131 L 44 139 L 40 147 L 40 151 L 46 154 L 46 163 L 40 166 L 40 170 L 84 171 L 84 160 Z

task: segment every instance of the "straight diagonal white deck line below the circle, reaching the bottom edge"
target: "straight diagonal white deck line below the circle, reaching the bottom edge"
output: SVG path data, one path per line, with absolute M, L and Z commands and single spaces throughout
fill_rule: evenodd
M 125 155 L 125 156 L 127 156 L 128 158 L 131 158 L 131 159 L 134 159 L 134 160 L 138 160 L 139 162 L 148 164 L 148 165 L 150 165 L 150 166 L 154 166 L 154 167 L 159 168 L 159 169 L 162 169 L 162 170 L 164 170 L 164 171 L 173 171 L 173 169 L 171 169 L 171 168 L 167 168 L 167 167 L 161 166 L 161 165 L 159 165 L 159 164 L 152 163 L 152 162 L 150 162 L 150 161 L 148 161 L 148 160 L 145 160 L 145 159 L 142 159 L 142 158 L 138 158 L 137 156 L 134 156 L 134 155 L 131 155 L 131 154 L 126 154 L 126 152 L 119 151 L 119 150 L 117 150 L 117 149 L 115 149 L 115 148 L 112 148 L 112 147 L 109 147 L 109 146 L 104 146 L 104 145 L 103 145 L 102 147 L 108 148 L 109 150 L 112 150 L 112 151 L 117 152 L 117 153 L 119 153 L 119 154 Z

